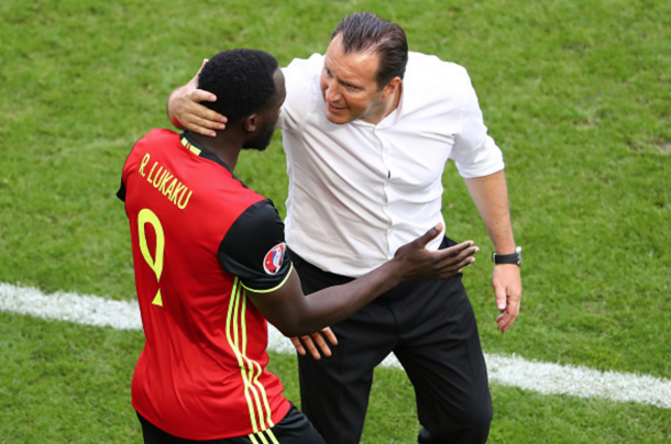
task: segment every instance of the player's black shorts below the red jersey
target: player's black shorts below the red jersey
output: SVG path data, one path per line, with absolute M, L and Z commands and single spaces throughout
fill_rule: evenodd
M 185 440 L 158 429 L 138 413 L 145 444 L 326 444 L 310 421 L 300 410 L 292 409 L 274 428 L 246 436 L 226 437 L 211 441 Z

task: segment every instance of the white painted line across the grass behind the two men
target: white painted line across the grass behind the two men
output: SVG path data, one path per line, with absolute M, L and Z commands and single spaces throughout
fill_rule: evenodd
M 120 330 L 141 330 L 138 302 L 113 301 L 72 292 L 45 295 L 35 288 L 0 282 L 0 310 L 43 319 Z M 293 353 L 289 340 L 270 325 L 268 348 Z M 529 362 L 518 356 L 486 354 L 490 380 L 543 395 L 605 398 L 671 409 L 671 380 L 646 375 L 598 371 L 586 367 Z M 394 355 L 382 364 L 402 368 Z

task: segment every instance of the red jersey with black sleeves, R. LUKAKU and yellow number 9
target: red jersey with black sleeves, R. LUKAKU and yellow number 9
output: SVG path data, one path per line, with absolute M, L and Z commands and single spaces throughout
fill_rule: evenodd
M 189 440 L 243 436 L 289 410 L 267 371 L 267 323 L 245 288 L 271 291 L 289 276 L 284 224 L 187 133 L 153 130 L 124 166 L 138 300 L 146 336 L 133 407 Z

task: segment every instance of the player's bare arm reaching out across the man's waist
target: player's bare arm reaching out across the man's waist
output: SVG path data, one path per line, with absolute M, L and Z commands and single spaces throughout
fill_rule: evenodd
M 248 290 L 248 295 L 263 315 L 286 336 L 310 334 L 349 318 L 400 281 L 447 279 L 472 264 L 475 260 L 472 256 L 479 248 L 471 241 L 439 251 L 426 248 L 441 229 L 432 227 L 402 246 L 392 260 L 349 284 L 306 296 L 298 274 L 293 269 L 280 288 L 270 292 Z

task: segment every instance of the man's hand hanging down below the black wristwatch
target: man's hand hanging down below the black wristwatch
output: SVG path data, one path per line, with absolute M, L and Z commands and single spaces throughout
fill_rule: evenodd
M 498 264 L 494 267 L 492 286 L 496 296 L 496 308 L 501 311 L 496 323 L 502 333 L 508 331 L 519 315 L 521 300 L 521 277 L 519 265 Z

